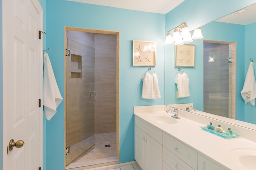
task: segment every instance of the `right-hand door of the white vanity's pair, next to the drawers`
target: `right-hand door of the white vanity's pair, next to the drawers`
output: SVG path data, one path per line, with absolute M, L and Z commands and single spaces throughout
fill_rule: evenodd
M 163 146 L 146 134 L 146 169 L 162 170 Z

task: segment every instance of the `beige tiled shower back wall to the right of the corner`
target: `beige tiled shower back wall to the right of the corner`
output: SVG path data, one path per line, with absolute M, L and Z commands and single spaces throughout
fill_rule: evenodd
M 116 35 L 95 34 L 95 132 L 116 132 Z

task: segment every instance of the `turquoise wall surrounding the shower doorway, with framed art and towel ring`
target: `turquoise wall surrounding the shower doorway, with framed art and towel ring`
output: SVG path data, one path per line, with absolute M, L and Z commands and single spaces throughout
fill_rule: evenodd
M 46 48 L 64 97 L 64 26 L 120 32 L 120 162 L 134 160 L 133 106 L 164 104 L 165 15 L 65 0 L 46 1 Z M 132 40 L 156 42 L 160 99 L 142 99 L 147 67 L 132 66 Z M 64 102 L 46 122 L 46 170 L 64 169 Z M 58 145 L 56 145 L 56 141 Z

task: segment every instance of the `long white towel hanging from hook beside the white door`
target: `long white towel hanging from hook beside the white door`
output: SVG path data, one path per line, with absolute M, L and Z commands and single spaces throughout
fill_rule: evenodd
M 57 112 L 57 107 L 63 100 L 52 70 L 52 65 L 47 53 L 44 54 L 43 73 L 43 105 L 44 116 L 49 121 Z

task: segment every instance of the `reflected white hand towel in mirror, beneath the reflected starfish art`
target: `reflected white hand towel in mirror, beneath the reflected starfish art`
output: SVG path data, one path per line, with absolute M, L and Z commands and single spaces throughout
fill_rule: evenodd
M 177 84 L 178 97 L 188 97 L 189 94 L 189 79 L 186 73 L 177 73 L 175 83 Z

